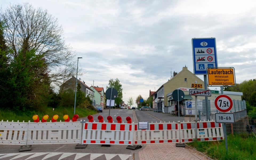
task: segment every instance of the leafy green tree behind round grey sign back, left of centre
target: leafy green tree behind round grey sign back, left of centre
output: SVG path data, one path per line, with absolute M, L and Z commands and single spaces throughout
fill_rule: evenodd
M 111 87 L 117 90 L 117 98 L 115 98 L 115 103 L 117 104 L 117 106 L 119 106 L 119 104 L 121 104 L 123 101 L 123 89 L 122 84 L 120 83 L 118 78 L 116 78 L 115 80 L 109 80 L 109 85 L 107 86 L 107 89 Z

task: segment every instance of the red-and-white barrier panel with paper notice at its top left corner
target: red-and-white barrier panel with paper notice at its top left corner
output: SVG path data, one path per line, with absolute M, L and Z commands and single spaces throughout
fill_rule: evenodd
M 134 124 L 134 144 L 179 143 L 178 123 L 149 123 L 149 130 L 139 130 Z

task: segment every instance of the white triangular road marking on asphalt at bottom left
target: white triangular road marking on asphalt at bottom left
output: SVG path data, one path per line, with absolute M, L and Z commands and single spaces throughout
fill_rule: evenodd
M 102 154 L 102 153 L 62 153 L 62 152 L 41 152 L 41 153 L 7 153 L 7 154 L 0 154 L 0 160 L 3 158 L 8 158 L 10 157 L 11 159 L 8 160 L 13 160 L 13 159 L 19 159 L 22 158 L 24 156 L 29 156 L 28 158 L 26 158 L 25 160 L 29 160 L 29 159 L 37 159 L 37 160 L 47 160 L 47 159 L 51 159 L 51 157 L 54 157 L 56 155 L 60 155 L 58 160 L 61 160 L 63 158 L 69 157 L 71 155 L 75 154 L 75 158 L 74 160 L 77 160 L 79 158 L 82 158 L 86 155 L 90 154 L 90 160 L 94 160 L 97 159 L 98 157 L 102 156 L 102 158 L 106 157 L 106 160 L 111 160 L 114 157 L 120 157 L 121 160 L 126 160 L 128 159 L 131 155 L 129 154 Z M 38 158 L 39 156 L 43 156 L 43 158 Z M 14 156 L 14 157 L 13 157 Z M 73 158 L 72 158 L 73 159 Z

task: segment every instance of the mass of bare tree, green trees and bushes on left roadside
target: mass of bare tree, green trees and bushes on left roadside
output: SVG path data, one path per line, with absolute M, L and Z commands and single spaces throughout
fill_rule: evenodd
M 73 107 L 73 90 L 56 92 L 75 75 L 74 56 L 58 19 L 47 10 L 28 3 L 0 9 L 0 109 Z M 77 105 L 85 101 L 91 105 L 78 85 Z

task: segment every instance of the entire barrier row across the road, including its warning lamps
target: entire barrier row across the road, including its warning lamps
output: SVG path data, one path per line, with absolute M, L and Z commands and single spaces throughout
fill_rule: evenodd
M 195 139 L 195 122 L 160 122 L 149 123 L 148 129 L 139 129 L 138 124 L 131 123 L 126 117 L 126 123 L 117 117 L 117 123 L 111 116 L 107 121 L 98 116 L 93 121 L 89 115 L 89 122 L 76 122 L 78 115 L 69 121 L 64 115 L 65 122 L 56 122 L 54 115 L 50 122 L 49 116 L 44 116 L 42 122 L 38 116 L 33 116 L 34 122 L 0 122 L 0 144 L 32 145 L 32 144 L 104 144 L 104 145 L 142 145 L 161 143 L 186 143 Z M 215 141 L 223 139 L 221 123 L 205 121 L 197 123 L 198 141 Z

